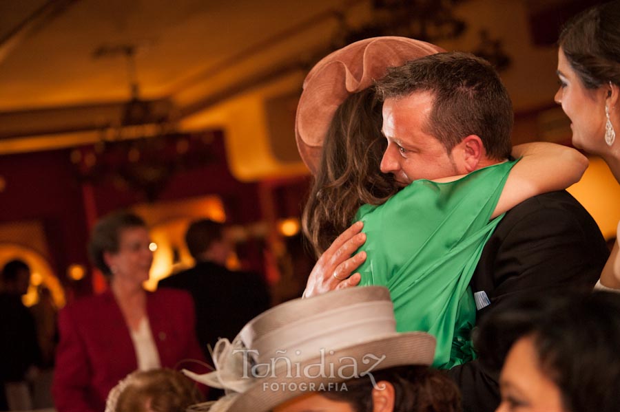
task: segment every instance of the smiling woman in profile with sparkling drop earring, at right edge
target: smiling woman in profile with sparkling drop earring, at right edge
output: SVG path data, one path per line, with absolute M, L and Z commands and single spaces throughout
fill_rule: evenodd
M 590 8 L 564 27 L 557 74 L 560 87 L 555 102 L 572 122 L 572 144 L 601 156 L 620 182 L 620 138 L 616 138 L 620 131 L 620 1 Z M 601 283 L 620 288 L 618 241 Z

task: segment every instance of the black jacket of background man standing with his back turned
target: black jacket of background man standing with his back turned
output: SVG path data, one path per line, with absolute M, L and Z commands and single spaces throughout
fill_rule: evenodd
M 218 338 L 232 340 L 254 316 L 269 309 L 269 292 L 262 278 L 234 272 L 211 262 L 162 279 L 158 288 L 187 290 L 196 306 L 196 335 L 205 357 Z

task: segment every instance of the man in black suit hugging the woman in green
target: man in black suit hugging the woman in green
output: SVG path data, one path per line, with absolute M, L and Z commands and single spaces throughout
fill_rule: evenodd
M 481 96 L 488 88 L 489 94 Z M 493 69 L 473 56 L 418 58 L 391 69 L 377 89 L 384 98 L 382 131 L 387 140 L 381 171 L 403 186 L 470 173 L 510 153 L 510 99 Z M 322 254 L 304 296 L 359 283 L 360 275 L 353 272 L 365 257 L 351 254 L 365 241 L 361 229 L 354 224 Z M 597 224 L 565 191 L 522 202 L 499 223 L 473 274 L 477 323 L 510 296 L 591 289 L 607 257 Z M 499 367 L 478 359 L 448 371 L 462 391 L 464 411 L 495 410 Z

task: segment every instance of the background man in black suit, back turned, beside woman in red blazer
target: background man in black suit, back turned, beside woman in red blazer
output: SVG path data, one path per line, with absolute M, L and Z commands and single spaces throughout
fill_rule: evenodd
M 196 260 L 193 268 L 162 279 L 158 288 L 187 290 L 196 307 L 196 335 L 210 358 L 208 347 L 218 338 L 232 340 L 254 316 L 269 309 L 269 292 L 262 278 L 225 267 L 231 251 L 224 225 L 209 219 L 194 221 L 185 242 Z

